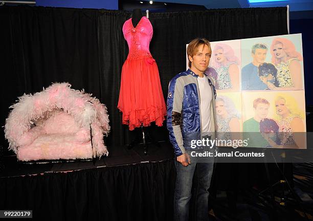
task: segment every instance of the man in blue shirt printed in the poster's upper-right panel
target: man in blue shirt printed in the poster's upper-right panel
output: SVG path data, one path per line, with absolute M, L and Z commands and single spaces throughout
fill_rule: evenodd
M 262 43 L 257 43 L 252 46 L 251 52 L 253 61 L 241 70 L 241 89 L 244 91 L 265 90 L 267 85 L 258 76 L 258 67 L 265 61 L 267 47 Z

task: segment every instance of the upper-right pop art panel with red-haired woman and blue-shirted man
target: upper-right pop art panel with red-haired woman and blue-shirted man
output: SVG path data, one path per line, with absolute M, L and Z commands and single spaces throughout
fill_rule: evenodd
M 301 34 L 241 40 L 241 90 L 304 90 Z

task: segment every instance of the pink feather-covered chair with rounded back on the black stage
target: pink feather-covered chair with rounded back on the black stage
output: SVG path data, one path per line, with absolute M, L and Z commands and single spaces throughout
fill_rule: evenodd
M 5 137 L 19 161 L 92 159 L 108 155 L 107 109 L 69 83 L 24 94 L 6 119 Z

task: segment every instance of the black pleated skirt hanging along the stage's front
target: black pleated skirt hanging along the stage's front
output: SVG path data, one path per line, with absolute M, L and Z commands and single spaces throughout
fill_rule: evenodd
M 175 176 L 169 160 L 0 178 L 0 208 L 34 220 L 172 220 Z

